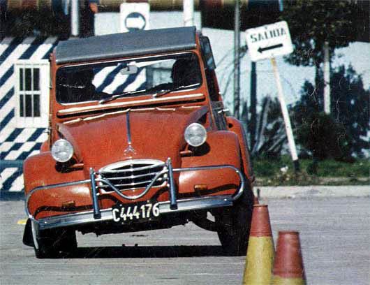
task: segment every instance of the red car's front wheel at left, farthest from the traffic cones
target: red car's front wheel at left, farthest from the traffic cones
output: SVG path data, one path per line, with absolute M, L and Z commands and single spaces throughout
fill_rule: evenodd
M 71 254 L 77 248 L 74 230 L 61 228 L 36 231 L 34 249 L 37 258 L 57 258 L 61 253 Z

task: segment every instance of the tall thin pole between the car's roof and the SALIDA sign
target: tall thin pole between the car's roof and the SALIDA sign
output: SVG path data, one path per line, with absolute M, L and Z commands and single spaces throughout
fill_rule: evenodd
M 234 17 L 234 116 L 239 119 L 240 105 L 240 3 L 235 0 L 235 17 Z

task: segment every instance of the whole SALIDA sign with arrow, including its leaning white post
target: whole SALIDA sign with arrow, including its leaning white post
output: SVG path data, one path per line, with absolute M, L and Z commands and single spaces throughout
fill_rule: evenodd
M 285 21 L 276 22 L 274 24 L 267 24 L 262 27 L 246 30 L 246 44 L 248 45 L 252 61 L 259 61 L 262 59 L 270 59 L 272 69 L 274 71 L 274 78 L 278 91 L 278 98 L 281 106 L 281 112 L 286 127 L 286 136 L 288 137 L 288 145 L 290 155 L 293 159 L 295 171 L 299 171 L 299 161 L 297 156 L 297 148 L 293 136 L 292 125 L 284 99 L 283 87 L 281 86 L 281 79 L 279 70 L 276 65 L 275 57 L 293 52 L 292 40 L 288 29 L 288 24 Z

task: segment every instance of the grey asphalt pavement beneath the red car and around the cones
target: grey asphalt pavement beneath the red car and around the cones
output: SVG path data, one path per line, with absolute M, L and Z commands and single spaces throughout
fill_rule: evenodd
M 370 200 L 263 197 L 272 231 L 299 231 L 308 284 L 369 284 Z M 22 201 L 0 201 L 0 284 L 241 284 L 245 257 L 223 256 L 194 224 L 122 235 L 77 235 L 66 258 L 37 259 L 22 244 Z

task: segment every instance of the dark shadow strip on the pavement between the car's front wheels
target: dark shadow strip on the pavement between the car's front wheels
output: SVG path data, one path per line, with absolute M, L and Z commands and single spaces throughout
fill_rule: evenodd
M 64 258 L 168 258 L 225 256 L 221 246 L 80 247 Z

